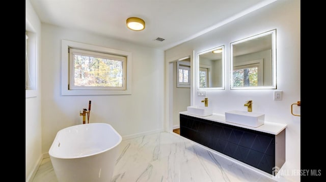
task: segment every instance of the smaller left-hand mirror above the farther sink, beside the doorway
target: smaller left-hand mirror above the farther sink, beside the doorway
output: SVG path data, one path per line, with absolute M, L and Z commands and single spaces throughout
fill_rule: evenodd
M 224 89 L 224 46 L 198 53 L 198 89 Z

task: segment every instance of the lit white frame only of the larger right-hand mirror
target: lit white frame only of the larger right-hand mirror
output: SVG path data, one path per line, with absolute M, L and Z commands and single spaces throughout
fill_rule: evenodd
M 243 43 L 246 41 L 250 41 L 256 38 L 263 37 L 265 35 L 271 34 L 271 74 L 273 74 L 272 77 L 272 83 L 271 85 L 268 86 L 251 86 L 251 87 L 233 87 L 233 45 Z M 269 30 L 263 33 L 259 33 L 256 35 L 253 35 L 248 38 L 241 39 L 239 41 L 235 41 L 230 43 L 230 89 L 231 90 L 241 90 L 241 89 L 276 89 L 277 88 L 277 83 L 276 83 L 276 29 Z

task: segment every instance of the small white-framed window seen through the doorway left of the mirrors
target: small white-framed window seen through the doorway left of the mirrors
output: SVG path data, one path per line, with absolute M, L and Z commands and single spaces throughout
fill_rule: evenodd
M 177 61 L 177 87 L 190 88 L 190 59 Z

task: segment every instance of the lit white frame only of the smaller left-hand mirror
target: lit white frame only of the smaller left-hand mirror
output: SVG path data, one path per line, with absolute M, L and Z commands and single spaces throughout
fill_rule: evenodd
M 222 49 L 222 87 L 199 87 L 199 69 L 200 69 L 200 62 L 199 56 L 208 52 L 212 52 L 214 50 Z M 225 46 L 215 47 L 206 51 L 199 52 L 197 54 L 197 67 L 196 67 L 196 77 L 197 77 L 197 89 L 198 90 L 225 90 Z

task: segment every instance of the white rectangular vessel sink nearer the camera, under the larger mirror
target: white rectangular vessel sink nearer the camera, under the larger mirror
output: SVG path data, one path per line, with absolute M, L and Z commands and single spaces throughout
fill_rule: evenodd
M 247 111 L 228 111 L 225 112 L 225 121 L 246 125 L 251 127 L 259 127 L 264 124 L 265 114 L 253 113 Z

